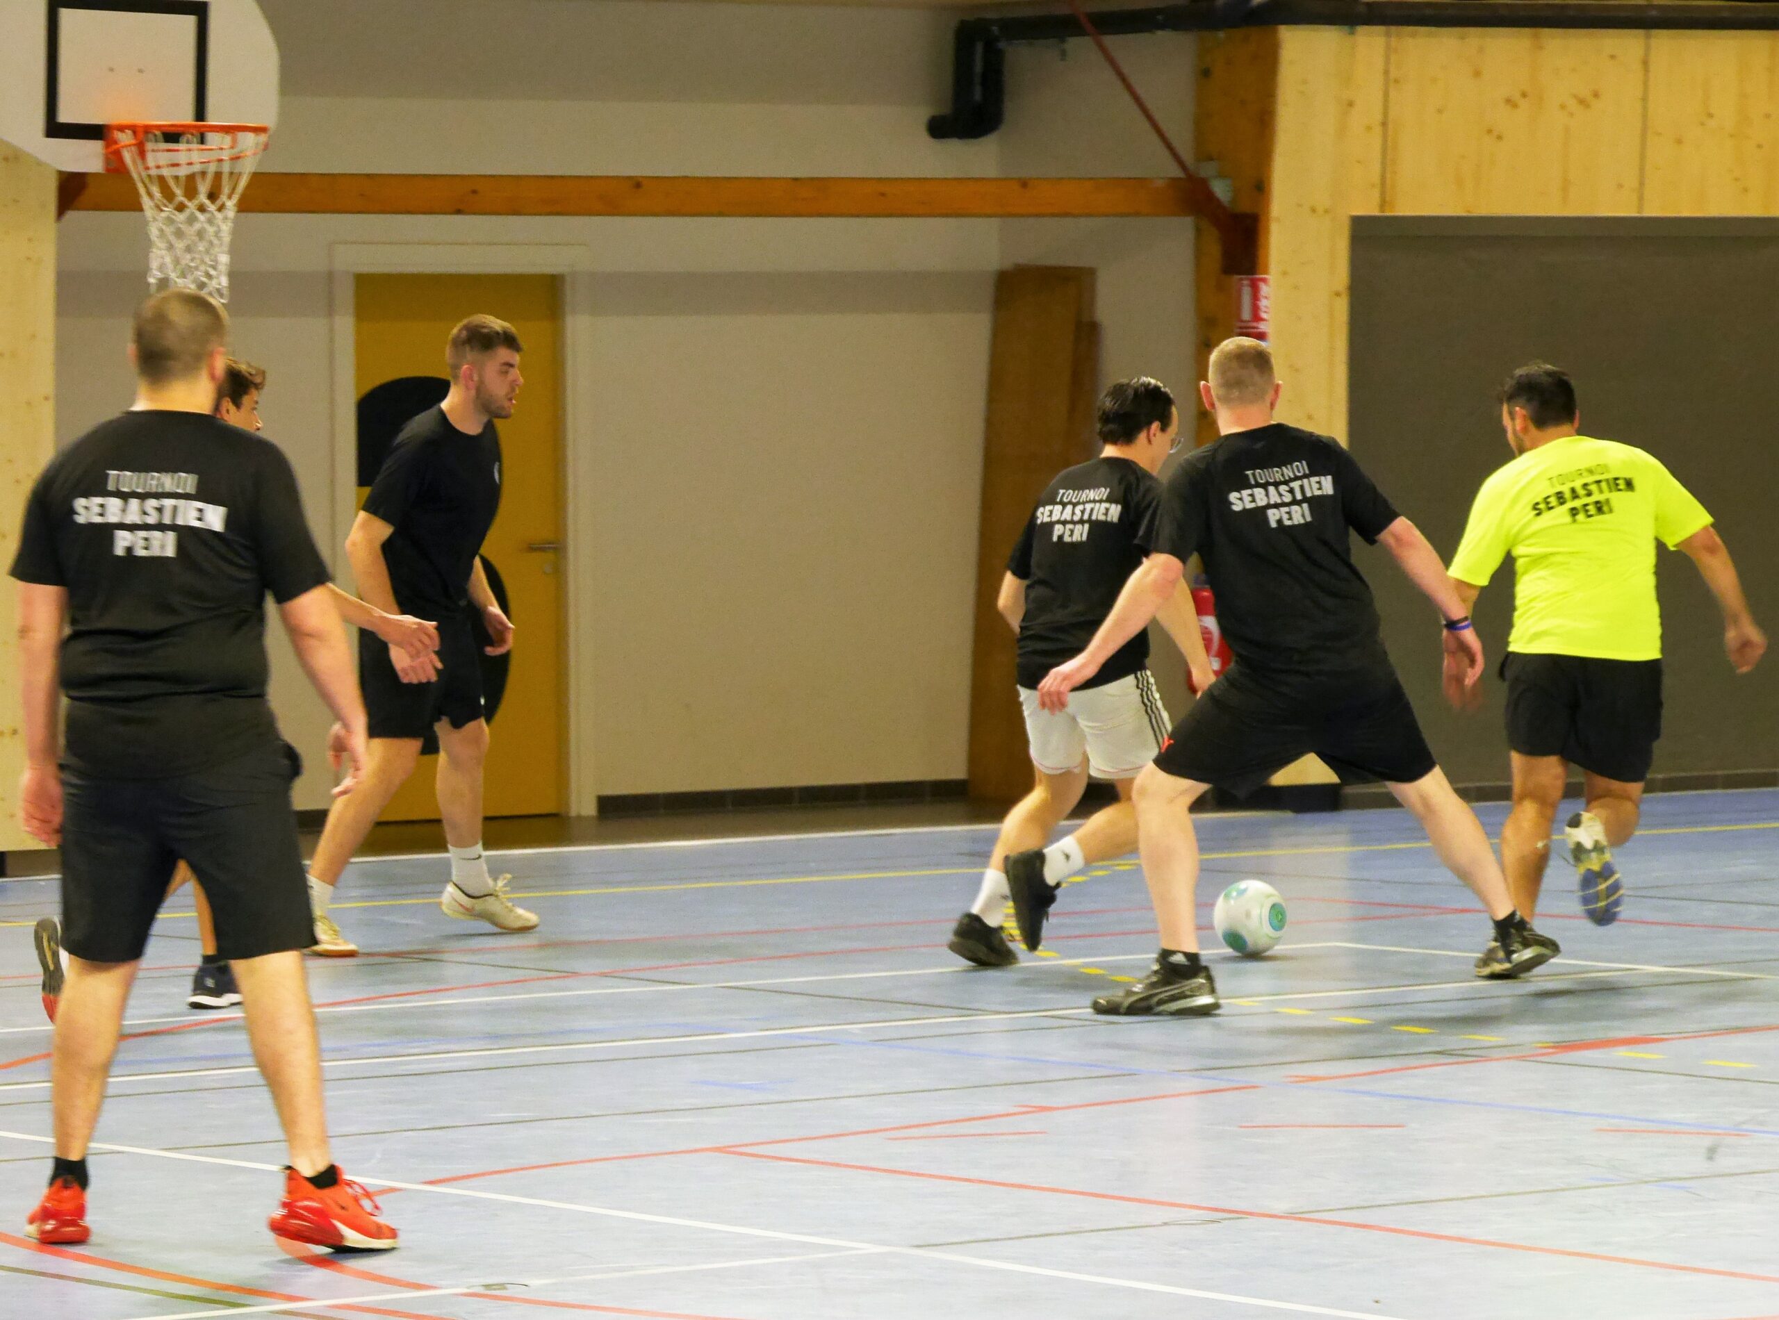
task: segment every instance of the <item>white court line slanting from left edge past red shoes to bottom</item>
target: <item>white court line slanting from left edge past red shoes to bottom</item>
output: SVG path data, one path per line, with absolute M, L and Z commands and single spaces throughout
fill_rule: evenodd
M 34 1137 L 23 1131 L 0 1131 L 0 1137 L 7 1137 L 21 1142 L 36 1142 L 39 1146 L 53 1146 L 53 1137 Z M 114 1146 L 110 1142 L 93 1142 L 94 1151 L 117 1151 L 121 1155 L 151 1155 L 164 1160 L 187 1160 L 190 1163 L 219 1163 L 231 1169 L 260 1169 L 265 1172 L 283 1172 L 283 1165 L 276 1163 L 258 1163 L 256 1160 L 228 1160 L 217 1155 L 190 1155 L 187 1151 L 160 1151 L 151 1146 Z M 986 1270 L 1005 1270 L 1009 1274 L 1035 1274 L 1044 1279 L 1069 1279 L 1073 1283 L 1098 1283 L 1108 1288 L 1130 1288 L 1135 1292 L 1147 1293 L 1167 1293 L 1169 1297 L 1199 1297 L 1210 1302 L 1233 1302 L 1235 1306 L 1254 1306 L 1267 1311 L 1292 1311 L 1295 1315 L 1327 1315 L 1336 1316 L 1336 1320 L 1402 1320 L 1400 1316 L 1379 1315 L 1377 1311 L 1341 1311 L 1332 1306 L 1311 1306 L 1308 1302 L 1277 1302 L 1267 1297 L 1244 1297 L 1242 1293 L 1217 1293 L 1206 1292 L 1203 1288 L 1181 1288 L 1171 1283 L 1146 1283 L 1142 1279 L 1119 1279 L 1107 1274 L 1080 1274 L 1076 1270 L 1051 1270 L 1042 1265 L 1018 1265 L 1014 1261 L 991 1260 L 987 1256 L 964 1256 L 952 1251 L 936 1251 L 930 1247 L 890 1247 L 881 1242 L 850 1242 L 847 1238 L 825 1238 L 815 1236 L 813 1233 L 785 1233 L 781 1229 L 769 1227 L 751 1227 L 744 1224 L 717 1224 L 713 1220 L 703 1219 L 681 1219 L 678 1215 L 649 1215 L 640 1210 L 614 1210 L 610 1206 L 587 1206 L 575 1201 L 546 1201 L 543 1197 L 530 1195 L 511 1195 L 505 1192 L 484 1192 L 470 1187 L 436 1187 L 432 1183 L 398 1183 L 391 1178 L 359 1178 L 358 1181 L 366 1187 L 398 1187 L 404 1192 L 432 1192 L 434 1195 L 464 1195 L 477 1201 L 498 1201 L 503 1204 L 516 1206 L 541 1206 L 544 1210 L 566 1210 L 576 1215 L 598 1215 L 601 1219 L 624 1219 L 637 1224 L 664 1224 L 667 1227 L 688 1227 L 701 1229 L 704 1233 L 738 1233 L 749 1238 L 767 1238 L 772 1242 L 802 1242 L 813 1247 L 834 1247 L 838 1251 L 856 1251 L 856 1252 L 882 1252 L 893 1256 L 914 1256 L 918 1260 L 941 1260 L 952 1261 L 955 1265 L 975 1265 Z M 409 1293 L 413 1295 L 413 1293 Z M 315 1299 L 302 1302 L 306 1308 L 327 1308 L 329 1302 L 324 1299 Z M 295 1309 L 297 1302 L 290 1302 L 279 1309 Z M 240 1315 L 251 1308 L 231 1308 L 228 1315 Z M 171 1316 L 155 1316 L 153 1320 L 171 1320 Z

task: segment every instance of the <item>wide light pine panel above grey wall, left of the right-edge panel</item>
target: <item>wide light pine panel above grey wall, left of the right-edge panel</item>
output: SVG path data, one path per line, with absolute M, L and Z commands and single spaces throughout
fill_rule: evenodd
M 1644 32 L 1395 28 L 1384 210 L 1638 208 Z

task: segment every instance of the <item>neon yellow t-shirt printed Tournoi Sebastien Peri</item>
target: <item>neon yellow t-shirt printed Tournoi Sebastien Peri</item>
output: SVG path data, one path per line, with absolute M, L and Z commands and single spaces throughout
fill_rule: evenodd
M 1654 455 L 1569 436 L 1482 484 L 1452 576 L 1482 587 L 1514 557 L 1510 651 L 1660 660 L 1656 539 L 1672 550 L 1710 525 Z

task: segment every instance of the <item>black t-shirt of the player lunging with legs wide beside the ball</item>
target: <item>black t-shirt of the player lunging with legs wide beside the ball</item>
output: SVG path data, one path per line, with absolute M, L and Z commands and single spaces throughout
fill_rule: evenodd
M 1140 543 L 1204 560 L 1238 664 L 1370 669 L 1388 658 L 1348 528 L 1375 543 L 1393 521 L 1389 500 L 1338 441 L 1276 422 L 1188 454 Z

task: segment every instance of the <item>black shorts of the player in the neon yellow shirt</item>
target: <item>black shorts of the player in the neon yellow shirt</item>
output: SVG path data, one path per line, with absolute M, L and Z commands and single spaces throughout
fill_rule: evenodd
M 1662 736 L 1662 662 L 1580 655 L 1501 660 L 1507 745 L 1521 756 L 1562 756 L 1606 779 L 1640 785 Z

